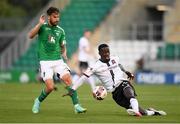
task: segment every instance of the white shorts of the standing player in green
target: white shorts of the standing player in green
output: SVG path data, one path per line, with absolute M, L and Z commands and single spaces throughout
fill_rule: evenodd
M 70 73 L 70 69 L 63 60 L 40 61 L 41 77 L 43 80 L 53 79 L 54 74 L 63 75 Z

